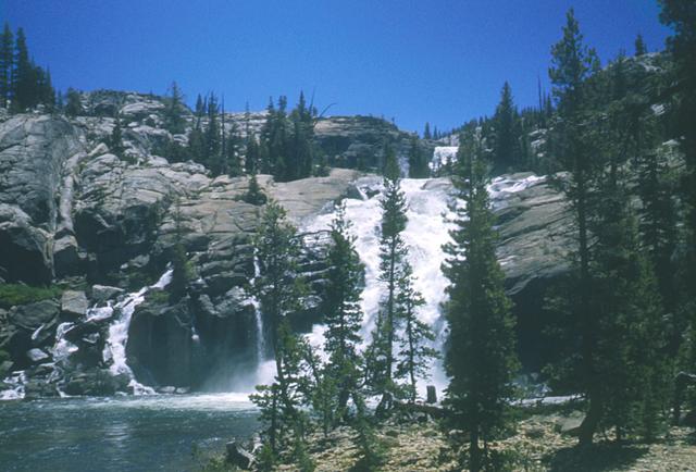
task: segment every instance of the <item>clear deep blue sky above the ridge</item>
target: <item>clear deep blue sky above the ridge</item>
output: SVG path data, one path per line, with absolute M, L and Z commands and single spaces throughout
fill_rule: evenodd
M 187 98 L 214 90 L 228 110 L 315 90 L 332 114 L 447 129 L 490 114 L 507 79 L 519 105 L 548 83 L 550 46 L 574 7 L 602 62 L 641 32 L 661 50 L 656 0 L 0 0 L 54 85 Z

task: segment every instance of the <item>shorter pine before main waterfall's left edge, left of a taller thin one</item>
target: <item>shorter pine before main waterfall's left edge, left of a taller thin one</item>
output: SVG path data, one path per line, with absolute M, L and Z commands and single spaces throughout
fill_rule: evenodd
M 362 325 L 360 294 L 364 268 L 355 248 L 356 238 L 348 233 L 349 227 L 345 206 L 340 206 L 331 226 L 326 258 L 330 269 L 323 307 L 324 351 L 328 356 L 327 373 L 337 394 L 336 418 L 347 414 L 348 399 L 355 397 L 360 376 L 357 345 Z

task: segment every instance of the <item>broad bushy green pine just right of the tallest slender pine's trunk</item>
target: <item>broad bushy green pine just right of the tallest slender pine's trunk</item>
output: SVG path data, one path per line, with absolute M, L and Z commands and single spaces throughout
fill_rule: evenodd
M 605 175 L 591 221 L 592 309 L 597 319 L 594 381 L 602 399 L 601 423 L 617 438 L 635 432 L 655 437 L 668 397 L 664 389 L 662 307 L 652 268 L 642 252 L 637 220 L 621 182 Z

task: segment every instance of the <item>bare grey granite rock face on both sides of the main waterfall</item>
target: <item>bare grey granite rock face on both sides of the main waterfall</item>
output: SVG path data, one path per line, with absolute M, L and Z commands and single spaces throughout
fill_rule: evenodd
M 182 300 L 172 305 L 161 295 L 135 310 L 129 365 L 144 383 L 174 387 L 201 386 L 215 372 L 240 365 L 256 369 L 259 333 L 245 287 L 254 275 L 251 241 L 262 207 L 241 200 L 248 179 L 213 178 L 200 164 L 170 163 L 166 156 L 158 156 L 163 141 L 186 142 L 185 135 L 172 136 L 163 128 L 161 98 L 100 90 L 83 95 L 83 109 L 87 115 L 75 119 L 0 116 L 0 283 L 60 282 L 72 287 L 60 300 L 0 312 L 0 349 L 11 357 L 3 362 L 48 378 L 46 364 L 55 361 L 58 326 L 73 323 L 63 335 L 78 350 L 71 355 L 74 370 L 61 377 L 64 392 L 126 388 L 127 380 L 109 376 L 102 358 L 112 320 L 87 320 L 88 308 L 113 305 L 151 285 L 181 241 L 194 281 Z M 129 158 L 125 160 L 105 144 L 116 113 Z M 190 125 L 190 112 L 185 119 Z M 227 119 L 227 126 L 237 122 L 245 133 L 245 114 Z M 251 113 L 249 132 L 260 133 L 264 120 L 264 113 Z M 369 116 L 322 117 L 314 131 L 332 162 L 349 166 L 377 166 L 385 142 L 403 158 L 411 138 L 394 124 Z M 355 181 L 360 175 L 333 169 L 326 177 L 276 183 L 259 175 L 258 181 L 301 225 L 344 197 L 359 198 Z M 494 198 L 501 235 L 498 254 L 522 320 L 522 337 L 529 333 L 525 343 L 533 345 L 544 293 L 568 271 L 570 219 L 563 197 L 543 178 L 508 178 L 512 186 L 522 181 L 529 185 L 519 191 L 504 189 Z M 426 185 L 450 186 L 442 178 Z M 307 331 L 318 320 L 327 269 L 323 258 L 321 245 L 309 241 L 300 265 L 312 294 L 306 312 L 291 320 L 298 330 Z M 54 387 L 32 388 L 36 395 L 57 394 Z

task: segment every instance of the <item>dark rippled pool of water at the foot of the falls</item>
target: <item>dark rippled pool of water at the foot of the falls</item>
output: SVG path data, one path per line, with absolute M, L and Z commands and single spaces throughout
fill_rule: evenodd
M 248 437 L 235 394 L 0 401 L 0 471 L 192 471 L 191 450 Z

